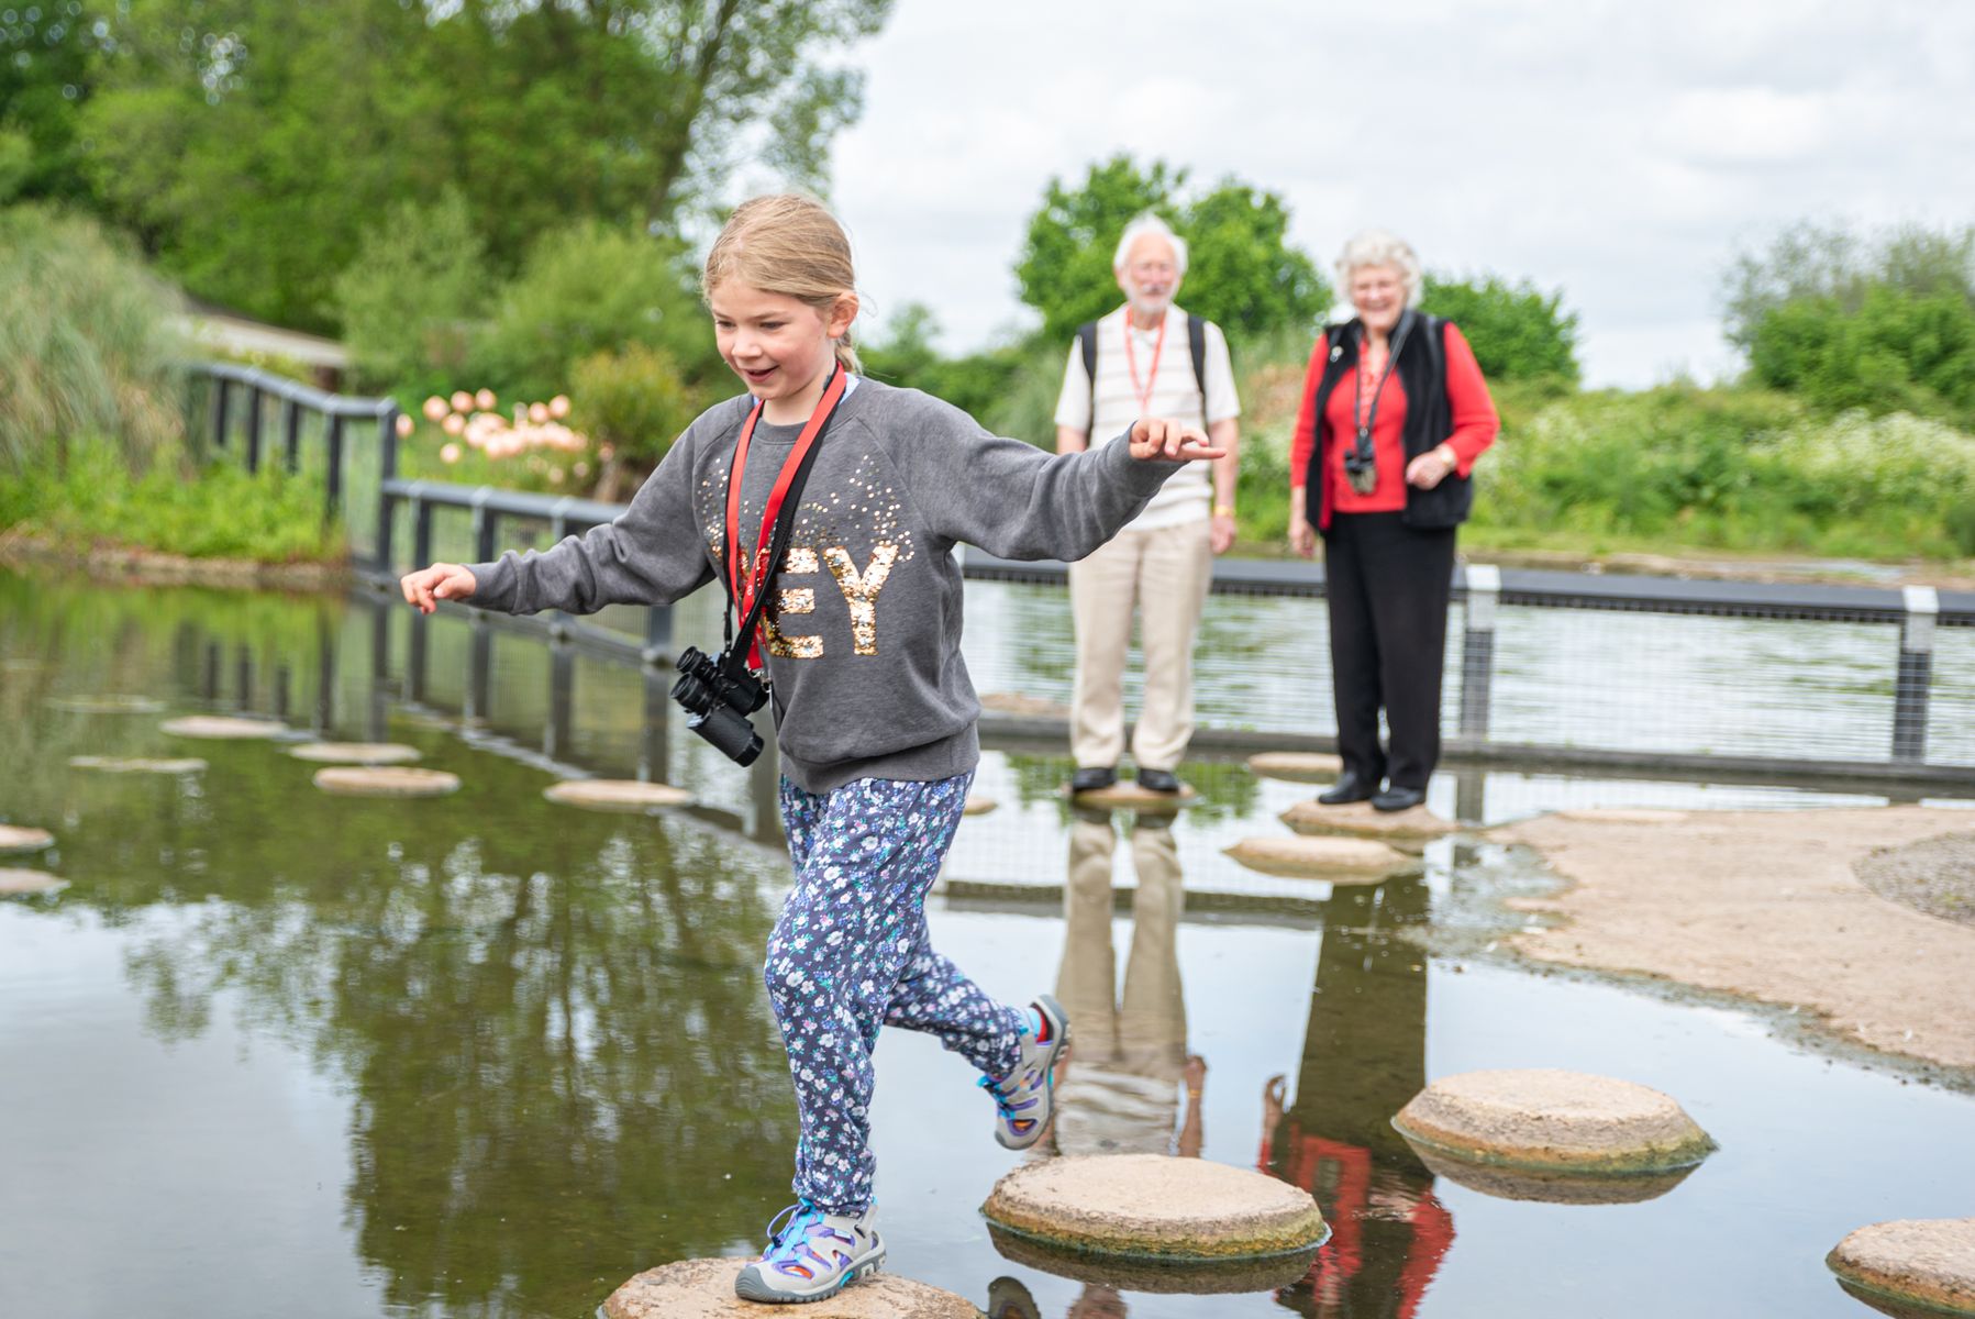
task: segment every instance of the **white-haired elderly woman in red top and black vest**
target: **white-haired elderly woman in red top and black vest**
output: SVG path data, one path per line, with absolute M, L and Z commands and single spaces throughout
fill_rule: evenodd
M 1367 229 L 1337 278 L 1357 316 L 1317 338 L 1290 450 L 1290 545 L 1307 559 L 1323 537 L 1343 758 L 1317 800 L 1400 812 L 1426 800 L 1440 760 L 1454 529 L 1501 421 L 1462 332 L 1414 310 L 1412 247 Z

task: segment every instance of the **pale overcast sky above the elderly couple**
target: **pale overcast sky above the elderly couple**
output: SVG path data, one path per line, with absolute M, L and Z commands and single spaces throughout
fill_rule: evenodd
M 1732 369 L 1722 269 L 1785 223 L 1975 223 L 1969 0 L 899 0 L 853 57 L 831 199 L 946 351 L 1033 324 L 1027 217 L 1118 150 L 1280 194 L 1325 271 L 1384 225 L 1562 288 L 1590 385 Z

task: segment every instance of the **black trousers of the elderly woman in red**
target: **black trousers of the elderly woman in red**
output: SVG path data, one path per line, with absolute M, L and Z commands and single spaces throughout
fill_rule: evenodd
M 1454 527 L 1414 531 L 1402 513 L 1333 513 L 1323 541 L 1331 693 L 1347 774 L 1426 788 L 1440 760 Z M 1392 731 L 1379 746 L 1379 709 Z

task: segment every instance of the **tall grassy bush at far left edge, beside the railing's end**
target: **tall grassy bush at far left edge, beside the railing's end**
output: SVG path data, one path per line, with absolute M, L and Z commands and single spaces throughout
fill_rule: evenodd
M 176 456 L 180 338 L 172 296 L 95 221 L 0 211 L 0 460 L 22 468 L 79 436 L 136 466 Z

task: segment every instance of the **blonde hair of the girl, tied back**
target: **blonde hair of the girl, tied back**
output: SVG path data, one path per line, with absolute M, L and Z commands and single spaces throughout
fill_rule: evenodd
M 752 197 L 735 207 L 707 251 L 699 290 L 711 298 L 727 280 L 804 302 L 826 322 L 839 298 L 857 292 L 843 225 L 822 201 L 796 194 Z M 851 332 L 845 328 L 833 344 L 843 369 L 861 373 Z

